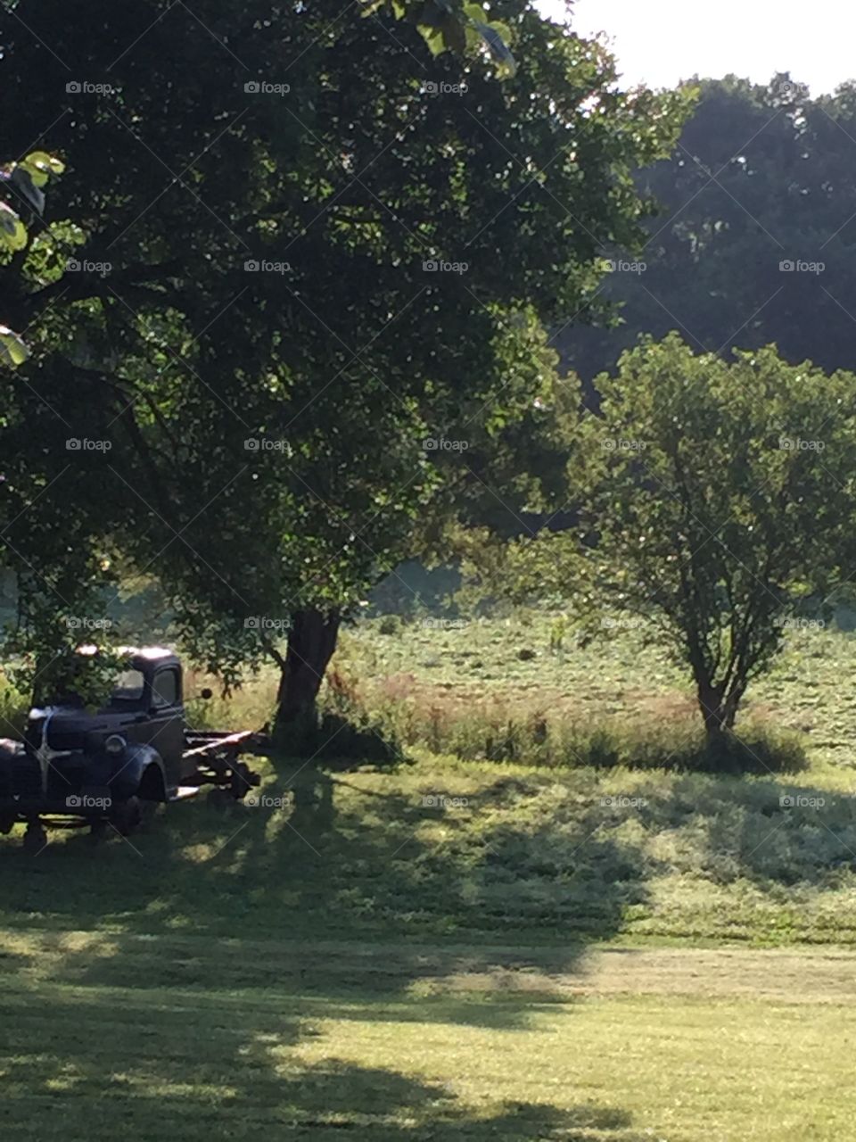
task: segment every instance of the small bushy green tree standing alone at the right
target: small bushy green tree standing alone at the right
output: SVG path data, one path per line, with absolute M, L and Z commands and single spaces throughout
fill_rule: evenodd
M 721 735 L 788 617 L 856 568 L 856 378 L 775 346 L 697 356 L 670 333 L 596 384 L 584 562 L 601 597 L 662 628 Z

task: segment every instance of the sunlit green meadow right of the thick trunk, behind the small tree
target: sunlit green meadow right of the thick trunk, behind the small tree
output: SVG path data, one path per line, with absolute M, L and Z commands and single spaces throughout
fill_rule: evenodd
M 592 729 L 641 741 L 652 734 L 679 741 L 697 730 L 685 668 L 632 619 L 607 617 L 603 636 L 584 649 L 567 634 L 552 648 L 562 625 L 547 612 L 461 622 L 373 620 L 346 632 L 336 665 L 405 740 L 419 740 L 426 729 L 430 738 L 434 726 L 437 745 L 452 740 L 477 750 L 484 726 L 502 730 L 509 719 L 563 726 L 572 745 L 574 734 L 584 740 Z M 847 679 L 854 675 L 856 635 L 788 632 L 773 669 L 748 692 L 738 734 L 784 732 L 799 739 L 813 764 L 853 766 L 856 692 Z

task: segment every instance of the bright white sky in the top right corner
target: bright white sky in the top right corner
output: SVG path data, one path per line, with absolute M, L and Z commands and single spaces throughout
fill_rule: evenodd
M 539 0 L 555 19 L 563 0 Z M 853 0 L 575 0 L 573 30 L 605 31 L 624 81 L 673 87 L 729 72 L 766 83 L 775 72 L 807 83 L 813 96 L 856 79 Z

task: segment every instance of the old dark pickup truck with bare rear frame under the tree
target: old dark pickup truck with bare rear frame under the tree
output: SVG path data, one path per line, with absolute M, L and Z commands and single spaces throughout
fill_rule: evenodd
M 159 803 L 205 785 L 241 801 L 259 783 L 240 761 L 253 747 L 252 731 L 187 726 L 176 654 L 129 649 L 122 665 L 99 709 L 64 698 L 30 711 L 23 742 L 0 739 L 0 834 L 26 822 L 31 851 L 47 843 L 47 823 L 88 825 L 96 836 L 112 826 L 127 836 Z

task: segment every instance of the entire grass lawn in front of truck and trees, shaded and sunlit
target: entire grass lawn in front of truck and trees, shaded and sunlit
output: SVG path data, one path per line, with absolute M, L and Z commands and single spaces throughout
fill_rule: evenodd
M 0 1137 L 853 1136 L 846 772 L 301 764 L 0 839 Z

